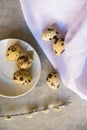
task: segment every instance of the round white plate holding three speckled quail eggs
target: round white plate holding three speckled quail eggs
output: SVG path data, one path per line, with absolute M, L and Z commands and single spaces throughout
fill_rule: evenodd
M 16 85 L 13 82 L 13 73 L 18 70 L 16 62 L 10 62 L 6 59 L 6 50 L 14 41 L 19 41 L 20 45 L 26 50 L 33 51 L 34 62 L 31 68 L 33 77 L 31 83 L 26 86 Z M 40 59 L 35 49 L 27 42 L 19 39 L 5 39 L 0 41 L 0 96 L 7 98 L 16 98 L 30 92 L 37 84 L 41 72 Z

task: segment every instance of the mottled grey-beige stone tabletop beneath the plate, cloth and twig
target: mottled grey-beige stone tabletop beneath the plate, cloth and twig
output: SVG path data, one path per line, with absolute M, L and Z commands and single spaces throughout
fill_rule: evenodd
M 54 69 L 29 31 L 18 0 L 0 0 L 0 40 L 5 38 L 29 42 L 40 57 L 42 69 L 40 80 L 30 93 L 17 99 L 0 97 L 0 115 L 27 112 L 33 105 L 60 103 L 60 99 L 69 100 L 71 104 L 60 112 L 41 112 L 31 119 L 25 116 L 14 117 L 11 121 L 0 118 L 0 130 L 87 130 L 87 102 L 63 85 L 57 91 L 47 86 L 46 77 Z

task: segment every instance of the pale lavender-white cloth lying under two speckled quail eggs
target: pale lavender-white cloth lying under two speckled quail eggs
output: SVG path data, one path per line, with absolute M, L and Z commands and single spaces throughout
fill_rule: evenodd
M 29 29 L 64 85 L 87 100 L 86 0 L 20 0 L 20 3 Z M 65 52 L 61 56 L 53 53 L 52 43 L 41 39 L 44 28 L 53 24 L 65 35 Z

